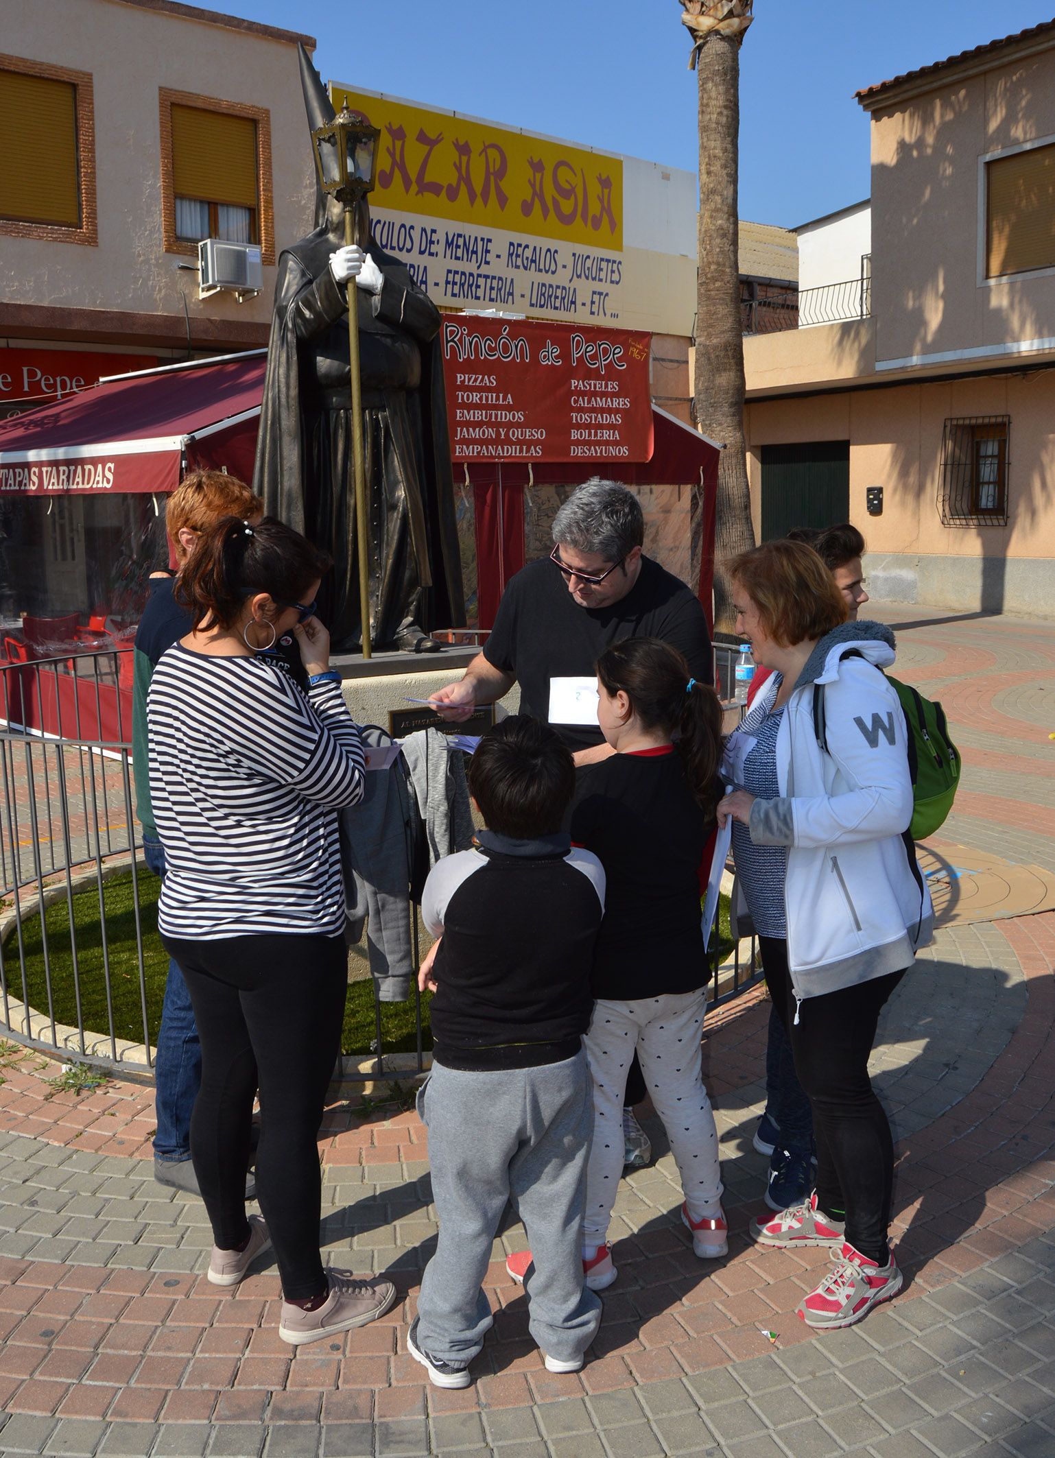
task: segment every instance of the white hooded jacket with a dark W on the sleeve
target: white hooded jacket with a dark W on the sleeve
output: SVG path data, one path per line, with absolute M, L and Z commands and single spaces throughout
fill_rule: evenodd
M 905 716 L 878 672 L 893 660 L 894 637 L 881 623 L 845 623 L 820 640 L 781 719 L 779 798 L 751 806 L 751 840 L 788 847 L 788 967 L 800 1002 L 900 971 L 932 937 L 931 897 L 903 838 L 912 819 Z M 827 752 L 813 722 L 814 684 L 824 685 Z M 750 736 L 776 688 L 775 678 L 762 687 L 735 735 Z M 735 735 L 727 768 L 743 763 Z M 743 930 L 743 891 L 735 913 Z

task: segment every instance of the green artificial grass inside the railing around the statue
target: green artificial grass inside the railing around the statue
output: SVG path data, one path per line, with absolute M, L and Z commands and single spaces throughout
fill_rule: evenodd
M 150 1044 L 158 1040 L 161 1009 L 168 975 L 168 954 L 158 936 L 158 897 L 161 881 L 147 870 L 137 875 L 139 914 L 143 937 L 143 974 L 146 986 L 146 1018 Z M 131 873 L 114 876 L 102 885 L 107 917 L 107 955 L 109 964 L 109 989 L 114 1009 L 114 1035 L 131 1042 L 143 1041 L 143 1012 L 139 991 L 139 964 L 136 955 L 134 888 Z M 102 919 L 99 916 L 99 889 L 89 886 L 73 897 L 73 924 L 77 946 L 77 981 L 80 986 L 80 1010 L 83 1025 L 93 1032 L 107 1034 L 109 1018 L 107 1012 L 107 981 L 104 972 Z M 70 946 L 70 914 L 66 900 L 57 901 L 45 911 L 44 930 L 48 939 L 48 961 L 51 965 L 51 1005 L 44 968 L 44 936 L 39 916 L 25 917 L 22 939 L 25 948 L 26 991 L 29 1005 L 36 1012 L 48 1013 L 50 1006 L 55 1022 L 77 1026 L 77 1000 L 73 977 L 73 952 Z M 718 907 L 718 935 L 721 952 L 731 951 L 730 904 L 721 897 Z M 422 939 L 422 949 L 428 942 Z M 365 949 L 352 951 L 352 964 L 366 967 Z M 7 990 L 22 999 L 22 972 L 15 940 L 4 946 L 4 971 Z M 422 994 L 422 1045 L 432 1047 L 429 1026 L 430 994 Z M 381 1003 L 381 1041 L 387 1053 L 413 1053 L 417 1047 L 414 1031 L 414 1000 L 403 1003 Z M 344 1007 L 344 1029 L 341 1048 L 350 1056 L 365 1057 L 375 1050 L 376 1015 L 374 983 L 369 977 L 358 977 L 349 983 Z

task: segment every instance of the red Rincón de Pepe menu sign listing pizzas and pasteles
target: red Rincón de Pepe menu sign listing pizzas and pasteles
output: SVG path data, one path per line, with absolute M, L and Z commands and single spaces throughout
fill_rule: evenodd
M 649 334 L 444 316 L 454 461 L 648 461 Z

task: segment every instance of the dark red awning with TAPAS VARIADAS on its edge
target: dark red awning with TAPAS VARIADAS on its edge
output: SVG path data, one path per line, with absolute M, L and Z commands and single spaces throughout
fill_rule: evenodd
M 267 354 L 102 379 L 0 421 L 0 493 L 171 491 L 188 467 L 252 474 Z

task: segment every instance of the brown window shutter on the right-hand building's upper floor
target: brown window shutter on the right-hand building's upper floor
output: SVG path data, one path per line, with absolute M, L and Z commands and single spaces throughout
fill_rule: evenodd
M 986 277 L 1055 267 L 1055 146 L 989 162 L 986 181 Z

